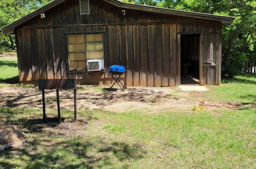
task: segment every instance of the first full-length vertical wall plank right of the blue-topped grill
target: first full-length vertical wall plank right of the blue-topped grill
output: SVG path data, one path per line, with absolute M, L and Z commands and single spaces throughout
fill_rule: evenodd
M 134 69 L 134 61 L 133 61 L 133 27 L 126 26 L 126 84 L 127 86 L 133 86 L 133 69 Z

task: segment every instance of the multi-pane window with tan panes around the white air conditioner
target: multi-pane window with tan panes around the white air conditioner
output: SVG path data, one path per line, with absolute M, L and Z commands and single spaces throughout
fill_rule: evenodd
M 69 70 L 86 70 L 87 59 L 104 59 L 103 34 L 68 35 Z

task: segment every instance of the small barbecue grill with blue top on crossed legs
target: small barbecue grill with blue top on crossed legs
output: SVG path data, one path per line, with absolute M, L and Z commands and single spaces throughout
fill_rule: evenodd
M 120 88 L 126 89 L 126 86 L 119 80 L 120 77 L 125 73 L 125 67 L 120 65 L 113 65 L 109 68 L 109 71 L 112 74 L 112 78 L 115 80 L 114 84 L 112 85 L 111 89 L 117 83 Z

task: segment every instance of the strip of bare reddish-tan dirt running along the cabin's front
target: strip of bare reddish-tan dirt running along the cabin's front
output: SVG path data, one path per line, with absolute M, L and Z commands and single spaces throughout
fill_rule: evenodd
M 170 88 L 128 88 L 124 92 L 78 90 L 78 110 L 97 109 L 110 112 L 141 111 L 155 113 L 159 111 L 192 110 L 194 105 L 203 102 L 205 110 L 237 109 L 237 103 L 224 104 L 205 98 L 204 92 L 178 92 L 177 87 Z M 57 109 L 56 92 L 46 91 L 46 109 Z M 61 109 L 74 109 L 74 92 L 60 91 Z M 0 106 L 42 109 L 42 93 L 37 88 L 0 88 Z

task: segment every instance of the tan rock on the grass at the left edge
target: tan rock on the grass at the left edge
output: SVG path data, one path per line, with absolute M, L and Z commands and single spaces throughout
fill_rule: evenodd
M 16 125 L 0 126 L 0 152 L 10 147 L 19 147 L 25 142 L 25 134 Z

